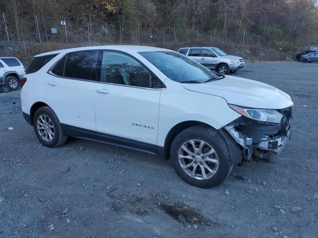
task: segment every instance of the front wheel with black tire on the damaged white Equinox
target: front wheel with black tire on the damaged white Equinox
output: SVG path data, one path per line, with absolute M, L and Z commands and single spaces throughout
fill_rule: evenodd
M 171 144 L 170 159 L 181 179 L 202 188 L 219 185 L 233 168 L 224 138 L 208 126 L 181 131 Z

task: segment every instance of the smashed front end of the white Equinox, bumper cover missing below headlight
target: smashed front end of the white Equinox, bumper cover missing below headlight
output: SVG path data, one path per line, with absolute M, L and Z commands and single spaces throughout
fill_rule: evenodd
M 262 123 L 241 117 L 224 126 L 242 148 L 242 158 L 275 162 L 291 136 L 291 109 L 280 123 Z

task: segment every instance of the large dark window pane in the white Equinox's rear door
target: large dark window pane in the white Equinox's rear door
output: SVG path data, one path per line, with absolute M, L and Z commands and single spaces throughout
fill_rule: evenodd
M 67 55 L 64 77 L 91 80 L 96 51 L 75 52 Z

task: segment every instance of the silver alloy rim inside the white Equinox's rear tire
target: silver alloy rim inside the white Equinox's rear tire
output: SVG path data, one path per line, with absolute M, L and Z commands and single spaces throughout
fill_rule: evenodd
M 47 142 L 54 138 L 55 128 L 53 121 L 45 114 L 42 114 L 36 120 L 36 127 L 41 138 Z

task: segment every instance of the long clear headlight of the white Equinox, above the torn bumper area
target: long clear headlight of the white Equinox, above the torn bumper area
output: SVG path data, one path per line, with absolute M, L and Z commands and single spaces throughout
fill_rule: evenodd
M 282 114 L 273 109 L 252 109 L 230 104 L 229 107 L 246 118 L 259 121 L 279 123 L 283 117 Z

